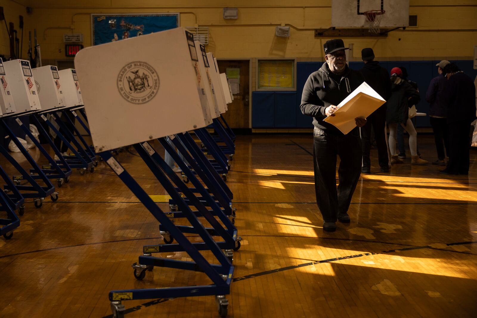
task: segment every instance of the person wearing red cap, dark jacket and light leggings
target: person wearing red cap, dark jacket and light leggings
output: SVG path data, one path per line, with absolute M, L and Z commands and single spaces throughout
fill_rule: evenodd
M 400 124 L 409 133 L 409 149 L 411 151 L 411 164 L 427 164 L 426 160 L 419 158 L 417 154 L 417 133 L 412 121 L 409 119 L 409 99 L 419 97 L 416 89 L 401 78 L 402 70 L 394 67 L 391 70 L 391 97 L 387 101 L 386 123 L 389 125 L 389 151 L 391 152 L 391 164 L 402 164 L 396 153 L 397 125 Z

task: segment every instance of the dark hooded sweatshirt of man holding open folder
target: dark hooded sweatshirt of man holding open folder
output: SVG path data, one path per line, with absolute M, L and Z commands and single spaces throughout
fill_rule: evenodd
M 327 133 L 342 134 L 331 123 L 323 122 L 325 109 L 330 105 L 338 105 L 364 81 L 360 72 L 346 65 L 341 82 L 330 77 L 330 69 L 326 62 L 321 68 L 312 72 L 303 87 L 301 95 L 301 113 L 313 117 L 313 125 Z M 349 84 L 349 85 L 348 85 Z M 357 129 L 357 128 L 355 128 Z

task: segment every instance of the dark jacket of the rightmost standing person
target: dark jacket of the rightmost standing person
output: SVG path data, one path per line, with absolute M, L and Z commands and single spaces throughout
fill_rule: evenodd
M 453 74 L 448 81 L 447 122 L 468 122 L 476 119 L 476 87 L 464 72 Z

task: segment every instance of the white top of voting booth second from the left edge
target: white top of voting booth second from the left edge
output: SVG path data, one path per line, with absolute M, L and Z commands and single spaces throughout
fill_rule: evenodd
M 25 60 L 7 61 L 3 62 L 3 68 L 8 74 L 8 84 L 15 103 L 15 114 L 41 110 L 30 62 Z

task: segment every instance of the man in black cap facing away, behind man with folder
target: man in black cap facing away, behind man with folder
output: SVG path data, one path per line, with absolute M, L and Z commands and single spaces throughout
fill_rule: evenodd
M 376 91 L 385 101 L 391 96 L 391 80 L 389 73 L 384 67 L 374 61 L 374 52 L 372 48 L 364 48 L 361 51 L 361 59 L 364 67 L 360 70 L 364 81 Z M 368 122 L 361 128 L 361 140 L 363 143 L 363 168 L 362 173 L 371 173 L 371 160 L 369 153 L 371 151 L 371 128 L 374 130 L 374 137 L 378 147 L 378 160 L 382 172 L 389 172 L 389 155 L 386 134 L 386 104 L 375 110 L 368 118 Z

